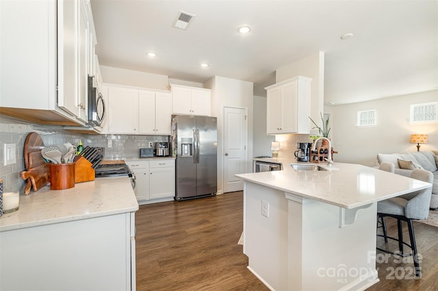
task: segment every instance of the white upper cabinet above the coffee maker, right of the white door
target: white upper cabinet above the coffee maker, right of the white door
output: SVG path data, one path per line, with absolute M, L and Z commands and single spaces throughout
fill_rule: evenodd
M 265 89 L 267 134 L 309 134 L 311 78 L 298 76 Z

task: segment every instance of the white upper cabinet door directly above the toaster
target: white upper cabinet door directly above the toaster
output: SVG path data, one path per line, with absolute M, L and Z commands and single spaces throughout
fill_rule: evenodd
M 155 134 L 155 92 L 138 93 L 138 110 L 139 134 Z

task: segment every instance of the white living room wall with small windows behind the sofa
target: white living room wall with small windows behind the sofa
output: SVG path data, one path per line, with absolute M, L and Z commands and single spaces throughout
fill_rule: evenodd
M 335 161 L 376 165 L 378 153 L 417 151 L 411 134 L 427 134 L 420 151 L 438 149 L 438 123 L 409 123 L 410 105 L 438 101 L 438 90 L 331 107 Z M 376 110 L 377 125 L 357 127 L 358 110 Z

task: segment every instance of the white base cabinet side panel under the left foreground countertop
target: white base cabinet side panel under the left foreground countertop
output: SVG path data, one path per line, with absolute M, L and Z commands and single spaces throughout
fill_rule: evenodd
M 135 213 L 0 233 L 0 290 L 136 290 Z

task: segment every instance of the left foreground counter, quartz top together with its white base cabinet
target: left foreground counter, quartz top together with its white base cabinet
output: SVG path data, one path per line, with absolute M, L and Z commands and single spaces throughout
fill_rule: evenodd
M 0 219 L 0 290 L 135 290 L 129 177 L 20 196 Z

